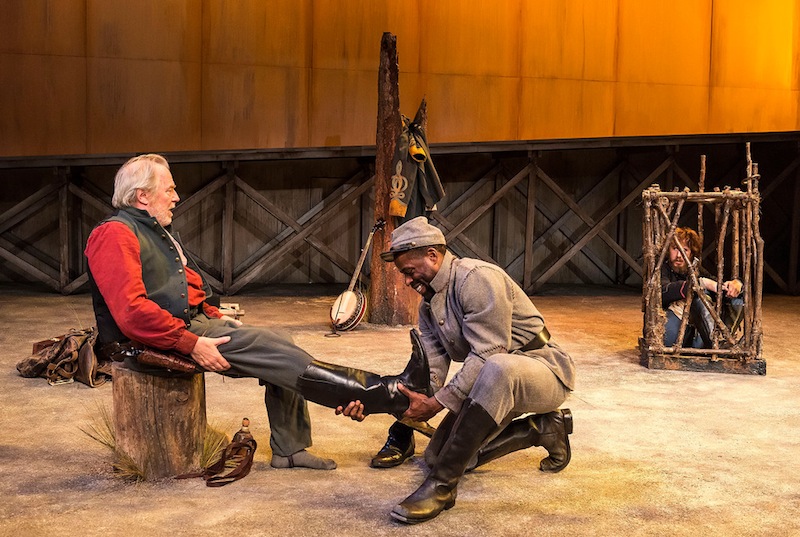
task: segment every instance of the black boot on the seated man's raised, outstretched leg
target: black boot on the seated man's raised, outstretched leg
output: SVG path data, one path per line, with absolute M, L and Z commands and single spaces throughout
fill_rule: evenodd
M 358 400 L 364 404 L 365 414 L 386 413 L 399 418 L 408 408 L 408 397 L 397 389 L 398 384 L 431 394 L 428 358 L 416 330 L 411 331 L 411 346 L 411 358 L 399 375 L 382 377 L 363 369 L 314 360 L 297 378 L 297 388 L 303 397 L 323 406 L 336 408 Z

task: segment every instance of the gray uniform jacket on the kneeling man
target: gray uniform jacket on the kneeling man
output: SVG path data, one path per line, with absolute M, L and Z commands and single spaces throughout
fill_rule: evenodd
M 435 294 L 430 303 L 420 304 L 419 329 L 434 396 L 442 405 L 457 412 L 494 354 L 540 360 L 567 389 L 574 389 L 572 358 L 552 339 L 542 349 L 520 350 L 542 330 L 544 319 L 503 269 L 447 252 L 430 286 Z M 444 385 L 451 360 L 464 365 Z

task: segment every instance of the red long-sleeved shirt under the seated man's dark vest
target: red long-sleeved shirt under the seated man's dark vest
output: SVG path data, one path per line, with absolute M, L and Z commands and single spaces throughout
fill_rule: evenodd
M 98 226 L 89 235 L 84 253 L 97 288 L 123 334 L 158 349 L 192 352 L 198 336 L 186 329 L 183 319 L 173 317 L 147 297 L 139 240 L 128 226 L 121 222 Z M 206 294 L 202 277 L 189 267 L 185 266 L 184 271 L 189 306 L 202 303 L 206 315 L 222 317 L 217 308 L 203 302 Z

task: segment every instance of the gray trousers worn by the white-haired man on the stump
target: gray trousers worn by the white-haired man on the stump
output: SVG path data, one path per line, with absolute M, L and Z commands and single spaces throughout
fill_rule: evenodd
M 308 405 L 297 393 L 297 377 L 313 358 L 286 333 L 256 326 L 237 327 L 221 319 L 199 314 L 189 331 L 198 336 L 230 336 L 219 351 L 231 364 L 222 374 L 257 378 L 265 386 L 264 403 L 269 417 L 269 444 L 273 454 L 287 457 L 311 446 Z

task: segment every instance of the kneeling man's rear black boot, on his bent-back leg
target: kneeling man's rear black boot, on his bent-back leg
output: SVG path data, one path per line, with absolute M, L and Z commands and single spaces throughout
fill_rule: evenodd
M 570 434 L 572 434 L 572 412 L 568 408 L 518 418 L 478 451 L 477 461 L 473 460 L 469 469 L 473 470 L 520 449 L 541 446 L 549 455 L 539 463 L 539 469 L 543 472 L 560 472 L 567 467 L 572 458 L 572 450 L 569 447 Z

